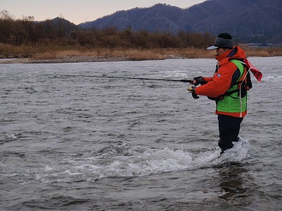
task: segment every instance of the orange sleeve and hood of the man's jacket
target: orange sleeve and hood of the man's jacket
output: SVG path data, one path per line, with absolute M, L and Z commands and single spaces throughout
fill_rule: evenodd
M 245 58 L 245 51 L 240 47 L 234 47 L 230 51 L 226 51 L 221 56 L 216 56 L 216 60 L 219 61 L 219 70 L 214 73 L 214 77 L 204 77 L 204 81 L 207 84 L 203 84 L 197 87 L 195 93 L 197 95 L 209 96 L 216 98 L 225 94 L 231 87 L 231 80 L 233 73 L 237 70 L 237 66 L 229 62 L 231 59 L 243 59 Z

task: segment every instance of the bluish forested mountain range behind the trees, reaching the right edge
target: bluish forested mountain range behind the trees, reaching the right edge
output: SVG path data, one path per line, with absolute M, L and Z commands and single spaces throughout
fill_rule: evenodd
M 281 0 L 208 0 L 190 8 L 156 4 L 149 8 L 118 11 L 92 22 L 82 29 L 116 27 L 148 32 L 228 32 L 244 42 L 282 43 Z

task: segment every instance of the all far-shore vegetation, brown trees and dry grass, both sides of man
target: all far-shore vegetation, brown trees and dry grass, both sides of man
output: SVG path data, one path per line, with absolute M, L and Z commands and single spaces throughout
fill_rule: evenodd
M 214 39 L 209 32 L 135 32 L 130 26 L 86 30 L 63 18 L 36 22 L 33 16 L 15 20 L 8 11 L 0 12 L 0 63 L 214 58 L 215 52 L 207 50 Z M 282 56 L 282 47 L 235 45 L 248 57 Z

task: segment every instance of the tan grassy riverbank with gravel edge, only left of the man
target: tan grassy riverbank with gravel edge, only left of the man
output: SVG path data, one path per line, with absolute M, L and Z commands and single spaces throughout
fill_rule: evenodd
M 35 51 L 36 52 L 36 51 Z M 0 55 L 0 63 L 80 63 L 121 60 L 164 60 L 170 58 L 209 58 L 204 49 L 62 49 L 42 53 Z M 16 55 L 16 56 L 15 56 Z

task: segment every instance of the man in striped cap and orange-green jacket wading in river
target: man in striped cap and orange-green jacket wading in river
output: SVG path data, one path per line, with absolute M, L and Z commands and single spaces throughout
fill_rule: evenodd
M 208 96 L 216 101 L 216 115 L 219 120 L 219 147 L 221 153 L 233 147 L 238 141 L 240 123 L 247 114 L 247 90 L 252 88 L 250 72 L 242 61 L 245 51 L 235 46 L 230 34 L 219 34 L 214 46 L 216 50 L 216 71 L 213 77 L 195 77 L 192 84 L 200 87 L 189 87 L 193 98 L 198 95 Z M 241 89 L 240 89 L 241 87 Z

